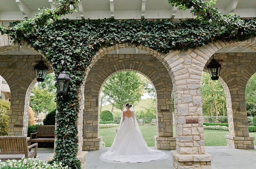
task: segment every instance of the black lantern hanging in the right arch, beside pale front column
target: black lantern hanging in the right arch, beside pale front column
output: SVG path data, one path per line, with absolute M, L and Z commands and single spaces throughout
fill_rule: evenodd
M 217 62 L 213 58 L 213 56 L 212 56 L 211 62 L 206 65 L 206 69 L 208 69 L 212 80 L 218 80 L 219 79 L 221 68 L 223 68 L 222 63 Z

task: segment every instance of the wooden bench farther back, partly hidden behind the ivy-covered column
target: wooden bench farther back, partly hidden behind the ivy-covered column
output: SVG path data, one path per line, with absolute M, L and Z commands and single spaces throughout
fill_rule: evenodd
M 36 138 L 32 138 L 36 135 Z M 38 125 L 37 132 L 30 134 L 29 144 L 39 142 L 54 142 L 55 126 L 54 125 Z

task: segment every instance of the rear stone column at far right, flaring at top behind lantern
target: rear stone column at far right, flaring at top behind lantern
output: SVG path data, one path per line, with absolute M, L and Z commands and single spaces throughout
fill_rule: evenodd
M 221 78 L 228 108 L 227 146 L 237 149 L 254 149 L 254 137 L 249 136 L 245 104 L 245 87 L 256 72 L 256 55 L 253 53 L 217 53 L 214 58 L 223 63 Z M 224 84 L 224 85 L 223 85 Z M 227 89 L 228 88 L 228 89 Z

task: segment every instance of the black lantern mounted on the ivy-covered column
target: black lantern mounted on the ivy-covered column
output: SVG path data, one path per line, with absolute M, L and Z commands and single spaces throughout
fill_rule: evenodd
M 63 70 L 64 61 L 61 61 L 61 66 L 62 66 L 62 72 L 59 74 L 57 78 L 57 83 L 58 83 L 58 90 L 59 90 L 60 96 L 64 96 L 67 94 L 70 78 L 66 73 L 66 71 Z

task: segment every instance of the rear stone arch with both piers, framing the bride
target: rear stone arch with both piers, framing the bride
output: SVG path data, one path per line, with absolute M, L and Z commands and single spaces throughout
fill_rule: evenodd
M 165 65 L 151 54 L 105 54 L 96 60 L 92 62 L 93 66 L 87 72 L 84 87 L 83 150 L 100 149 L 98 98 L 101 86 L 114 73 L 127 70 L 143 74 L 155 87 L 158 121 L 156 147 L 175 148 L 171 112 L 172 80 Z

